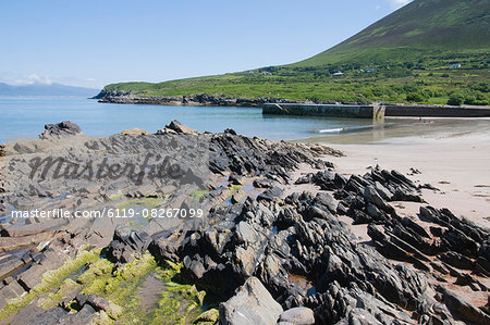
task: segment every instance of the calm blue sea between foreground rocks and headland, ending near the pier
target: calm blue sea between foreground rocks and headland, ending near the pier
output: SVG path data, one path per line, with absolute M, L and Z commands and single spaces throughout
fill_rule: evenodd
M 150 133 L 172 120 L 200 132 L 223 132 L 273 140 L 292 140 L 369 129 L 370 120 L 262 115 L 261 109 L 162 107 L 98 103 L 85 98 L 0 97 L 0 142 L 34 139 L 45 124 L 73 121 L 87 136 L 107 136 L 139 127 Z

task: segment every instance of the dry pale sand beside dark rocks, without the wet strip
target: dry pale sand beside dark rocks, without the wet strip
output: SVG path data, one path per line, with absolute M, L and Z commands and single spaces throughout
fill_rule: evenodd
M 489 121 L 490 125 L 490 121 Z M 443 134 L 424 137 L 401 137 L 363 145 L 328 146 L 342 150 L 346 157 L 331 158 L 342 174 L 364 174 L 366 167 L 379 164 L 382 168 L 421 174 L 409 176 L 418 184 L 431 184 L 442 192 L 422 190 L 425 200 L 434 208 L 449 208 L 454 214 L 466 216 L 490 227 L 490 132 L 456 127 Z M 418 205 L 404 204 L 407 213 Z

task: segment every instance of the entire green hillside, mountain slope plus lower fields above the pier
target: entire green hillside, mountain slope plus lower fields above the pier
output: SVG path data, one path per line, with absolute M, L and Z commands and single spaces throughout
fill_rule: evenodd
M 489 104 L 489 22 L 488 0 L 415 0 L 298 63 L 158 84 L 113 84 L 100 96 L 131 91 L 139 97 Z

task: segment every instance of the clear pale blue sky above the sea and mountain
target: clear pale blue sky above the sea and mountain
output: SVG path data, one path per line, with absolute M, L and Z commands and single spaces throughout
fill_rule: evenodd
M 101 88 L 293 63 L 411 0 L 0 2 L 0 82 Z

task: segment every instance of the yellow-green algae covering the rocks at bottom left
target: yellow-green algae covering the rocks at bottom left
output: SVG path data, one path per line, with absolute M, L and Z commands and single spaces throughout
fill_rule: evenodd
M 65 308 L 76 313 L 81 305 L 75 296 L 79 292 L 107 300 L 107 307 L 95 314 L 93 324 L 110 324 L 113 321 L 191 324 L 203 313 L 206 292 L 193 285 L 172 282 L 181 266 L 172 262 L 159 266 L 151 254 L 145 253 L 115 268 L 114 263 L 100 255 L 100 250 L 83 251 L 74 259 L 66 260 L 61 267 L 47 272 L 41 283 L 28 293 L 9 300 L 8 305 L 0 311 L 0 320 L 8 318 L 29 303 L 49 310 L 59 305 L 63 299 L 66 301 Z M 84 272 L 72 278 L 81 268 Z M 137 293 L 148 277 L 160 282 L 162 290 L 158 293 L 155 307 L 144 311 Z

